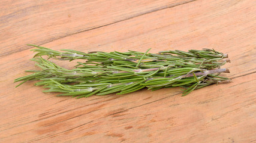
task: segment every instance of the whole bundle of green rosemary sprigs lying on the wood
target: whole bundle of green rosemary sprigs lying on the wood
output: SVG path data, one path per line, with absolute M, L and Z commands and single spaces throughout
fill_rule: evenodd
M 19 77 L 14 82 L 40 80 L 36 86 L 49 88 L 43 92 L 61 92 L 57 96 L 73 96 L 77 98 L 91 95 L 107 95 L 118 92 L 127 94 L 147 88 L 152 91 L 161 88 L 186 88 L 182 96 L 213 83 L 227 83 L 231 80 L 219 76 L 229 73 L 228 69 L 220 69 L 229 62 L 228 55 L 214 49 L 184 51 L 161 51 L 158 54 L 146 52 L 80 52 L 62 49 L 54 51 L 42 46 L 31 45 L 37 52 L 32 61 L 41 70 L 28 76 Z M 47 60 L 42 56 L 47 56 Z M 76 60 L 74 69 L 65 69 L 49 61 Z M 17 85 L 17 86 L 19 86 Z M 17 87 L 16 86 L 16 87 Z

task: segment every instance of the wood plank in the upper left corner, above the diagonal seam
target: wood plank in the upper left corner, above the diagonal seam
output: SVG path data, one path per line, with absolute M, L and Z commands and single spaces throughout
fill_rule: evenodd
M 12 1 L 0 4 L 0 56 L 194 0 Z

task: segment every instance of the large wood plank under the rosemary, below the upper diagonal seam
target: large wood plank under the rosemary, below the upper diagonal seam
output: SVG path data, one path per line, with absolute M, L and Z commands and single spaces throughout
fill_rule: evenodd
M 80 51 L 215 48 L 228 53 L 231 63 L 224 67 L 231 73 L 223 75 L 233 82 L 186 97 L 180 97 L 179 88 L 80 100 L 53 97 L 32 86 L 34 82 L 14 88 L 15 78 L 35 69 L 30 47 L 1 57 L 0 142 L 256 141 L 253 6 L 252 1 L 195 1 L 43 45 Z

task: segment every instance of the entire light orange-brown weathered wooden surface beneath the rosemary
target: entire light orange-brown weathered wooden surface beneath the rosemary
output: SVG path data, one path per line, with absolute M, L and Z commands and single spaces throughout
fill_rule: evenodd
M 256 2 L 0 2 L 0 142 L 256 142 Z M 233 82 L 54 97 L 13 80 L 35 69 L 27 43 L 80 51 L 214 48 Z M 58 62 L 64 67 L 73 63 Z

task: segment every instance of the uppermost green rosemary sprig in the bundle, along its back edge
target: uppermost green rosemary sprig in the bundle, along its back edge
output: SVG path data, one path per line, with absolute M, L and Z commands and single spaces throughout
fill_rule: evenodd
M 47 55 L 48 58 L 55 58 L 56 60 L 75 60 L 75 59 L 84 59 L 87 60 L 86 63 L 83 63 L 87 66 L 93 64 L 99 64 L 103 67 L 113 64 L 114 66 L 132 66 L 147 69 L 150 67 L 159 67 L 159 66 L 168 66 L 169 64 L 174 64 L 175 66 L 182 67 L 199 67 L 202 69 L 213 69 L 219 66 L 224 65 L 230 60 L 225 60 L 227 54 L 222 54 L 221 52 L 216 52 L 212 49 L 203 49 L 203 50 L 189 50 L 189 52 L 183 51 L 162 51 L 159 54 L 146 54 L 147 52 L 95 52 L 95 53 L 85 53 L 80 51 L 74 51 L 70 49 L 62 49 L 62 51 L 68 52 L 59 52 L 54 51 L 49 48 L 42 46 L 35 46 L 38 49 L 32 49 L 31 51 L 37 52 L 34 57 Z M 171 54 L 166 54 L 171 53 Z M 177 55 L 173 55 L 177 54 Z M 161 61 L 161 62 L 159 62 Z M 82 63 L 79 63 L 77 66 L 80 66 Z M 89 64 L 89 65 L 88 65 Z

